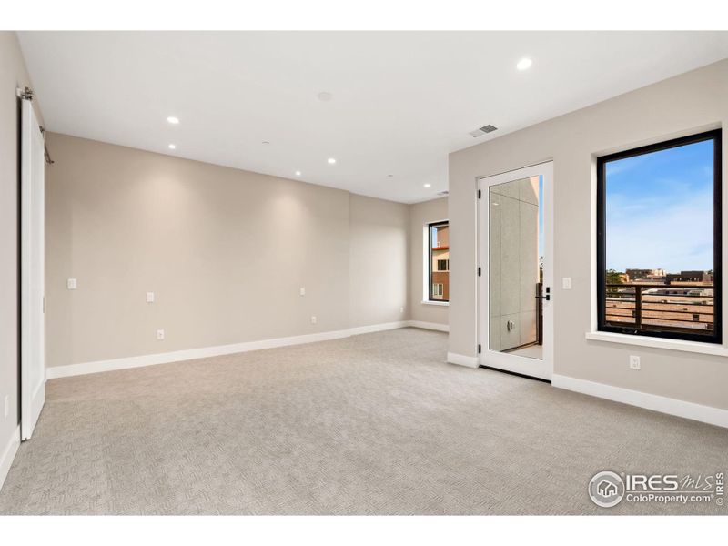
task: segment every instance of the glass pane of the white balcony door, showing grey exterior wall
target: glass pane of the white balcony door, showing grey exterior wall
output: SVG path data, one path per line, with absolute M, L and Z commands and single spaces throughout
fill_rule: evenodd
M 543 177 L 489 188 L 490 350 L 541 359 Z

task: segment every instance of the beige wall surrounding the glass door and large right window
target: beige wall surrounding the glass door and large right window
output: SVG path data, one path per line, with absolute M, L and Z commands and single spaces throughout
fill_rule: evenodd
M 474 357 L 478 344 L 476 178 L 553 159 L 554 372 L 728 409 L 728 359 L 588 341 L 594 278 L 594 157 L 728 121 L 728 60 L 612 98 L 566 116 L 450 154 L 450 352 Z M 728 138 L 723 139 L 723 166 Z M 725 187 L 725 185 L 724 185 Z M 728 192 L 723 191 L 723 203 Z M 728 217 L 728 215 L 724 215 Z M 723 222 L 728 240 L 728 221 Z M 728 253 L 723 256 L 726 270 Z M 571 277 L 573 288 L 561 289 Z M 723 301 L 723 316 L 728 316 Z M 728 339 L 723 326 L 723 339 Z M 642 356 L 642 369 L 628 356 Z

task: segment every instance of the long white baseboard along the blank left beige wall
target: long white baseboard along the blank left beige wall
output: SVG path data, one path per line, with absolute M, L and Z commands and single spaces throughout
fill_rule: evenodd
M 372 324 L 352 329 L 334 330 L 330 332 L 320 332 L 318 334 L 292 336 L 289 338 L 263 339 L 260 341 L 218 345 L 217 347 L 175 350 L 153 355 L 127 357 L 125 359 L 96 360 L 95 362 L 82 362 L 79 364 L 68 364 L 66 366 L 52 366 L 45 370 L 45 379 L 67 378 L 71 376 L 85 375 L 88 373 L 98 373 L 100 371 L 112 371 L 114 369 L 140 368 L 142 366 L 167 364 L 168 362 L 178 362 L 181 360 L 207 359 L 207 357 L 218 357 L 238 352 L 248 352 L 250 350 L 273 349 L 276 347 L 288 347 L 289 345 L 300 345 L 302 343 L 313 343 L 315 341 L 349 338 L 349 336 L 356 336 L 369 332 L 379 332 L 387 329 L 398 329 L 406 326 L 410 326 L 410 321 L 402 320 L 399 322 Z

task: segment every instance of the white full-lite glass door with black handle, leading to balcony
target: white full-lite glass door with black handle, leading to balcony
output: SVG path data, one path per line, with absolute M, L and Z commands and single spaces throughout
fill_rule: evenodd
M 553 372 L 553 163 L 479 181 L 480 364 Z

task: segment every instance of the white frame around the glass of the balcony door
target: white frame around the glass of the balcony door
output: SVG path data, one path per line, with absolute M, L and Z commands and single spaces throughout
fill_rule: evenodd
M 551 288 L 551 300 L 543 302 L 543 359 L 530 359 L 512 353 L 490 350 L 490 199 L 489 187 L 521 178 L 543 176 L 543 286 Z M 553 375 L 553 160 L 543 161 L 496 175 L 478 177 L 478 252 L 480 255 L 478 338 L 480 366 L 551 381 Z

